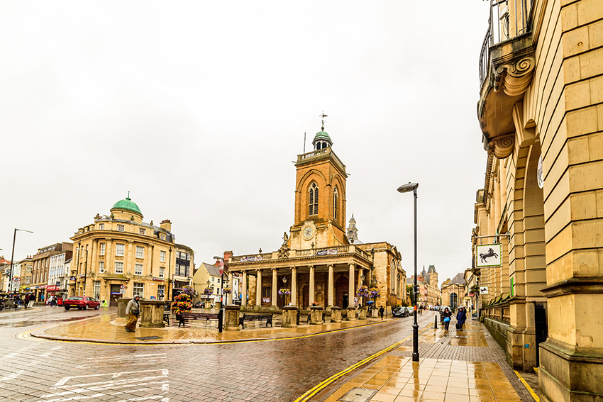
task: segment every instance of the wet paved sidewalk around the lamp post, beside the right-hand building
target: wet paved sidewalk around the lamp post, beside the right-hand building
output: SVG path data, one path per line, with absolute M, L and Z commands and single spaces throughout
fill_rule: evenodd
M 450 331 L 441 325 L 421 330 L 419 356 L 412 362 L 409 337 L 296 402 L 534 402 L 479 321 L 469 320 L 463 331 L 455 330 L 454 323 Z

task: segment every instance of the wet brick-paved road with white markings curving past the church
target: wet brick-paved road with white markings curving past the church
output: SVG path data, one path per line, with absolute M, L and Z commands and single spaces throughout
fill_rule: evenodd
M 411 335 L 412 325 L 412 318 L 400 318 L 302 339 L 223 345 L 99 345 L 19 335 L 106 313 L 45 307 L 0 313 L 0 401 L 292 401 Z M 433 323 L 433 314 L 419 323 Z

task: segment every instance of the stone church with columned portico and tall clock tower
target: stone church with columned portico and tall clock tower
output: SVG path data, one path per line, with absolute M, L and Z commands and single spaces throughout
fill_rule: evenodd
M 294 222 L 289 233 L 278 235 L 280 250 L 225 253 L 230 274 L 241 278 L 243 306 L 274 310 L 291 303 L 306 309 L 314 301 L 325 309 L 327 321 L 333 307 L 352 311 L 352 318 L 355 308 L 369 301 L 357 298 L 364 284 L 380 289 L 375 303 L 389 313 L 406 301 L 402 255 L 388 242 L 358 240 L 353 217 L 346 231 L 345 164 L 324 127 L 312 145 L 314 150 L 297 155 Z M 290 294 L 280 296 L 283 288 Z

